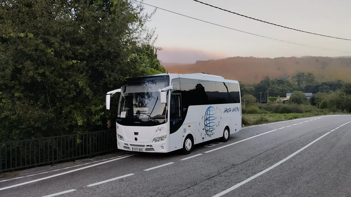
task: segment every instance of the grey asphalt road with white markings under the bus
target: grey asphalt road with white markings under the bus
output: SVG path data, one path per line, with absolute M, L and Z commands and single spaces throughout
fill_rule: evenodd
M 66 169 L 47 167 L 0 179 L 0 196 L 351 196 L 350 115 L 258 125 L 215 142 L 190 155 L 126 151 Z

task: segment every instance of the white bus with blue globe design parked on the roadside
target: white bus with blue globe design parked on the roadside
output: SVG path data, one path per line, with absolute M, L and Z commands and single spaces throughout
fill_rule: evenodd
M 189 154 L 194 144 L 241 130 L 238 81 L 202 73 L 128 78 L 120 92 L 116 120 L 118 149 Z

